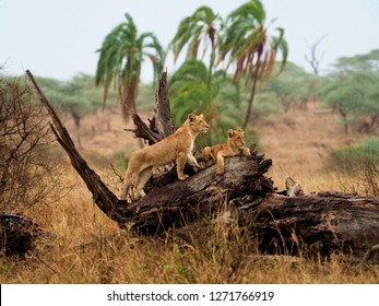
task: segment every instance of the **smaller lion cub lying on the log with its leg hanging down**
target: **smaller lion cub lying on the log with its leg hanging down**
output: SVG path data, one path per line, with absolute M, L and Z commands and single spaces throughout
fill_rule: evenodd
M 241 129 L 229 129 L 227 130 L 226 143 L 205 146 L 203 150 L 203 157 L 208 166 L 212 161 L 217 161 L 216 174 L 221 175 L 224 173 L 224 157 L 235 156 L 240 153 L 244 155 L 251 155 L 249 148 L 245 146 L 245 132 Z

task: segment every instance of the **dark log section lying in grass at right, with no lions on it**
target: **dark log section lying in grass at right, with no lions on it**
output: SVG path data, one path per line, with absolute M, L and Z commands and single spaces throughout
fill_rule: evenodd
M 379 244 L 379 199 L 318 192 L 270 195 L 239 203 L 240 223 L 260 238 L 262 251 L 306 256 L 343 252 L 355 259 Z M 375 258 L 379 261 L 379 257 Z

